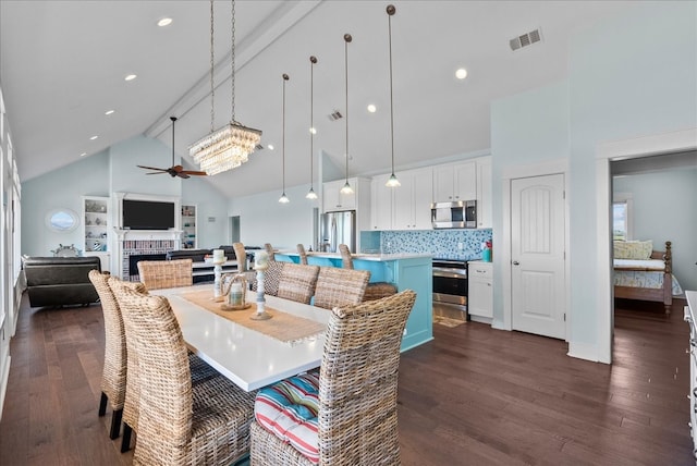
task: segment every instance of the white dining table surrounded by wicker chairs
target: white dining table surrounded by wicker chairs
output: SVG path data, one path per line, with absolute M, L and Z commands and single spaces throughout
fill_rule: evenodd
M 319 367 L 325 333 L 288 343 L 248 329 L 198 306 L 182 295 L 212 286 L 194 285 L 154 290 L 166 296 L 182 329 L 188 348 L 241 389 L 249 392 L 288 377 Z M 304 317 L 325 326 L 331 311 L 276 296 L 265 296 L 266 307 Z M 247 292 L 247 302 L 256 292 Z M 271 311 L 273 314 L 273 311 Z

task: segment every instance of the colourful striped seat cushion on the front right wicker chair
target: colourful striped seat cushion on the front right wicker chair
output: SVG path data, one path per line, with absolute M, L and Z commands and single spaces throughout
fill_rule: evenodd
M 313 463 L 319 463 L 318 390 L 318 376 L 303 373 L 259 390 L 254 403 L 257 422 Z

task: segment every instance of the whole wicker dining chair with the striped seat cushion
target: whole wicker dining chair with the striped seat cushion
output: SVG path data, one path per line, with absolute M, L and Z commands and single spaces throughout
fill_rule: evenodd
M 406 290 L 332 309 L 318 382 L 313 375 L 297 376 L 257 394 L 253 465 L 400 464 L 400 345 L 415 299 Z M 303 402 L 288 403 L 297 387 L 305 391 Z

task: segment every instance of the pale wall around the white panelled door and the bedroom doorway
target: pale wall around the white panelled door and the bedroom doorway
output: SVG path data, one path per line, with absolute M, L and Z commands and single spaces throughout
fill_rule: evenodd
M 562 151 L 563 125 L 568 121 L 572 353 L 574 345 L 588 350 L 586 355 L 599 347 L 597 148 L 604 142 L 697 126 L 695 19 L 696 2 L 640 3 L 572 38 L 567 95 L 557 83 L 492 107 L 494 243 L 502 224 L 501 173 Z M 545 118 L 518 118 L 525 114 Z M 557 124 L 550 121 L 554 114 L 560 119 Z M 497 297 L 494 317 L 502 312 L 501 306 Z

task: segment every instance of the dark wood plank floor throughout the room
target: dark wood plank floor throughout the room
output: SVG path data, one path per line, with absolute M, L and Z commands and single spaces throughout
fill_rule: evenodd
M 467 322 L 402 355 L 404 465 L 694 465 L 688 329 L 677 301 L 620 303 L 614 364 L 564 342 Z M 22 308 L 0 421 L 0 465 L 120 465 L 97 417 L 99 306 Z

